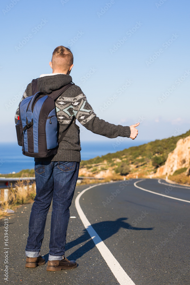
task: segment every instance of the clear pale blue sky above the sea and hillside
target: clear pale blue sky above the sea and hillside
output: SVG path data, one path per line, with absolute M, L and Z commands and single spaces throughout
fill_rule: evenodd
M 16 141 L 14 115 L 25 87 L 52 72 L 49 61 L 58 45 L 70 46 L 70 75 L 99 118 L 125 126 L 140 121 L 139 141 L 190 129 L 189 1 L 0 5 L 1 142 Z M 81 131 L 81 141 L 106 140 Z

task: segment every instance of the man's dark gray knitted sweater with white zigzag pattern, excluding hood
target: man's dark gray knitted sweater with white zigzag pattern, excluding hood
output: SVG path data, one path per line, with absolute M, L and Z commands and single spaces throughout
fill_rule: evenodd
M 38 78 L 39 91 L 50 94 L 72 81 L 70 75 L 56 74 Z M 32 96 L 32 84 L 29 83 L 21 101 Z M 68 125 L 70 128 L 64 139 L 58 146 L 57 154 L 48 158 L 34 158 L 35 161 L 81 161 L 80 156 L 80 130 L 75 124 L 75 118 L 91 132 L 108 138 L 130 137 L 130 127 L 110 124 L 94 113 L 91 105 L 87 102 L 86 96 L 79 86 L 69 87 L 56 100 L 56 111 L 58 118 L 59 138 Z M 15 114 L 15 123 L 18 122 L 19 107 Z

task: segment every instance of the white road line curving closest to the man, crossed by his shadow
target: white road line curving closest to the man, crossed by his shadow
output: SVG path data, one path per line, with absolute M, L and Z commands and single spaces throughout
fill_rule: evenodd
M 118 181 L 117 181 L 118 182 Z M 116 182 L 110 182 L 110 183 L 116 183 Z M 83 225 L 87 229 L 89 235 L 91 236 L 91 239 L 95 243 L 97 249 L 101 253 L 102 257 L 104 258 L 105 262 L 111 269 L 113 275 L 117 279 L 120 285 L 135 285 L 134 282 L 130 279 L 130 277 L 126 274 L 126 272 L 123 270 L 123 268 L 120 266 L 119 262 L 116 260 L 116 258 L 113 256 L 111 251 L 107 248 L 107 246 L 104 244 L 104 242 L 101 240 L 99 235 L 96 233 L 96 231 L 91 226 L 90 222 L 88 221 L 87 217 L 85 216 L 83 210 L 81 209 L 79 199 L 80 197 L 89 189 L 93 187 L 97 187 L 103 184 L 109 184 L 106 183 L 100 183 L 97 185 L 90 186 L 86 189 L 84 189 L 75 199 L 75 207 L 77 209 L 77 212 L 79 214 L 79 217 L 81 221 L 83 222 Z

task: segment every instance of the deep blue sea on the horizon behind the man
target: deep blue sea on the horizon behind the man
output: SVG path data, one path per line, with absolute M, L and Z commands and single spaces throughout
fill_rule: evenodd
M 131 146 L 148 143 L 148 141 L 85 141 L 81 142 L 81 160 L 88 160 L 96 156 L 117 152 Z M 34 158 L 24 156 L 22 147 L 14 143 L 0 143 L 0 174 L 17 173 L 23 169 L 34 168 Z

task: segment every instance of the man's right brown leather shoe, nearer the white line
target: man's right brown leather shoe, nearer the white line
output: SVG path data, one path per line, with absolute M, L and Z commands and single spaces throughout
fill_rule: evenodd
M 69 261 L 66 257 L 62 260 L 48 260 L 47 271 L 58 271 L 62 269 L 72 269 L 77 267 L 77 262 Z

